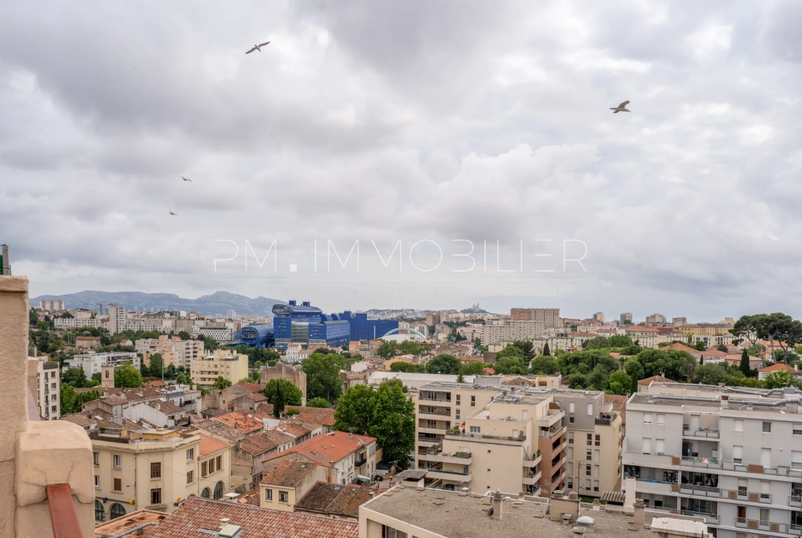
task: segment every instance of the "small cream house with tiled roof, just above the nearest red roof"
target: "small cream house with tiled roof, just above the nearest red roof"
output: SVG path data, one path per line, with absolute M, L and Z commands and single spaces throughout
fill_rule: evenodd
M 259 482 L 259 506 L 293 512 L 295 503 L 318 480 L 325 480 L 329 467 L 287 459 L 274 465 Z

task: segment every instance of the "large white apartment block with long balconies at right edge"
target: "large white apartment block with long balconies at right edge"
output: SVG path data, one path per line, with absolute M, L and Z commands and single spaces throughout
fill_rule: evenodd
M 624 488 L 718 538 L 802 536 L 800 396 L 652 382 L 626 404 Z

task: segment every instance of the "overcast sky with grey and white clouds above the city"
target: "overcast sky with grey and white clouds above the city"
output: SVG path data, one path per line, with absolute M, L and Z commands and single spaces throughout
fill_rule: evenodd
M 802 315 L 799 2 L 46 3 L 0 18 L 31 296 Z

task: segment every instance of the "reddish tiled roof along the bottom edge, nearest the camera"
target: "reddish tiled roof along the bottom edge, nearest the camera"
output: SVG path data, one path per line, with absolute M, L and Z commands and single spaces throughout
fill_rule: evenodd
M 355 522 L 278 512 L 249 504 L 190 497 L 149 538 L 209 538 L 228 518 L 242 528 L 242 538 L 358 538 Z M 209 532 L 212 531 L 212 532 Z

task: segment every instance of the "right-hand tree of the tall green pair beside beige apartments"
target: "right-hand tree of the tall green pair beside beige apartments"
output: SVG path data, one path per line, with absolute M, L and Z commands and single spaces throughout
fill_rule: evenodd
M 415 404 L 397 385 L 376 390 L 369 434 L 384 449 L 387 461 L 406 462 L 415 450 Z

